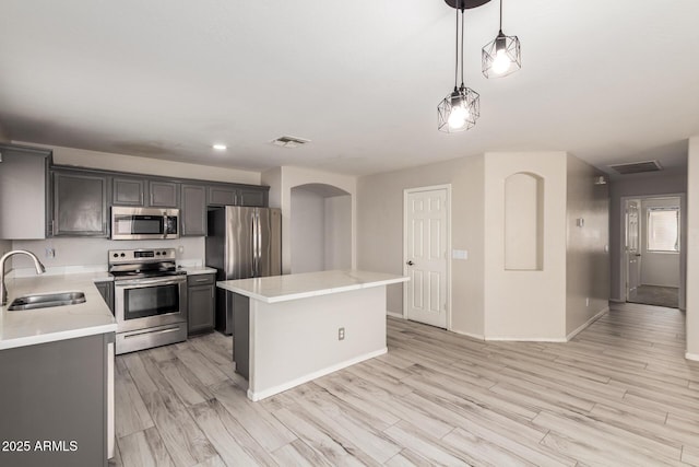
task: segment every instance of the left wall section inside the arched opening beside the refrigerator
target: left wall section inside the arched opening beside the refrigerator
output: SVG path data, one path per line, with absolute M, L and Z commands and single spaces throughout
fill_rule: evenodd
M 325 268 L 325 199 L 300 187 L 292 189 L 292 273 Z

